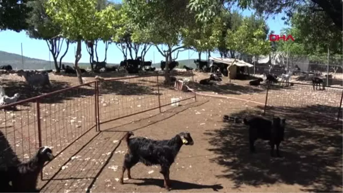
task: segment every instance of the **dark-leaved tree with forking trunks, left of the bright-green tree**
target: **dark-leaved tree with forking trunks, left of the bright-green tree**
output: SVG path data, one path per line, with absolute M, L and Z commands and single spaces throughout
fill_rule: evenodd
M 26 34 L 30 38 L 43 39 L 52 54 L 54 59 L 55 69 L 60 72 L 62 59 L 66 56 L 69 48 L 69 40 L 62 37 L 58 37 L 61 32 L 61 27 L 52 22 L 51 18 L 46 14 L 44 4 L 47 0 L 34 0 L 28 2 L 27 6 L 31 8 L 31 12 L 28 15 Z M 64 41 L 67 44 L 67 49 L 60 57 L 59 64 L 57 62 L 58 56 L 60 55 L 62 45 Z

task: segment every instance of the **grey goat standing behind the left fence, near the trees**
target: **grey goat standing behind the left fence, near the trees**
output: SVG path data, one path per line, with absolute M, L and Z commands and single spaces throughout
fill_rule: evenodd
M 19 76 L 23 76 L 26 82 L 33 88 L 33 86 L 49 86 L 51 88 L 51 83 L 49 80 L 49 74 L 45 71 L 43 72 L 28 72 L 20 70 L 17 72 Z

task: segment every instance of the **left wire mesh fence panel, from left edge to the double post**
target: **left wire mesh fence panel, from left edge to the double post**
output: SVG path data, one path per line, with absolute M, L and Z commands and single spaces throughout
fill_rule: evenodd
M 95 125 L 95 87 L 81 85 L 1 107 L 1 162 L 27 161 L 38 147 L 59 154 Z M 12 156 L 9 156 L 12 155 Z

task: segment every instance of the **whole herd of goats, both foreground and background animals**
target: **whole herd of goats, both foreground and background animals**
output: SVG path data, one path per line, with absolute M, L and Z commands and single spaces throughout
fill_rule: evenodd
M 228 76 L 229 68 L 227 67 L 227 65 L 213 63 L 209 67 L 207 62 L 200 60 L 194 60 L 194 63 L 197 64 L 197 68 L 201 71 L 212 72 L 210 74 L 210 78 L 201 80 L 200 84 L 209 84 L 210 81 L 221 81 L 222 79 L 220 77 Z M 137 73 L 140 69 L 146 69 L 146 66 L 149 66 L 147 71 L 154 71 L 155 68 L 151 67 L 151 64 L 151 61 L 142 63 L 141 60 L 124 60 L 122 61 L 122 63 L 120 63 L 120 67 L 126 68 L 128 73 Z M 168 65 L 168 70 L 172 70 L 178 65 L 179 64 L 177 61 L 171 61 Z M 165 63 L 161 61 L 162 70 L 164 70 L 165 66 Z M 97 64 L 94 68 L 94 71 L 116 71 L 116 68 L 117 67 L 106 67 L 106 63 Z M 186 70 L 193 70 L 192 68 L 189 68 L 187 66 L 185 66 L 184 68 L 186 68 Z M 12 67 L 7 65 L 1 66 L 0 69 L 12 70 Z M 62 65 L 62 69 L 65 71 L 65 73 L 76 73 L 75 69 L 70 66 Z M 241 68 L 238 68 L 238 70 L 241 70 Z M 86 72 L 86 70 L 81 69 L 81 72 L 84 73 Z M 294 74 L 294 72 L 295 70 L 290 70 L 288 72 L 286 71 L 285 73 L 282 73 L 281 81 L 289 83 L 289 79 Z M 19 70 L 16 73 L 19 76 L 24 77 L 31 87 L 37 85 L 47 85 L 51 87 L 47 71 L 32 72 Z M 264 77 L 266 77 L 265 81 L 269 84 L 278 82 L 278 77 L 275 74 L 270 73 L 270 71 L 268 73 L 265 73 Z M 320 84 L 322 84 L 322 87 L 324 89 L 324 81 L 322 79 L 318 77 L 312 77 L 311 79 L 314 89 L 315 85 L 319 85 L 320 89 Z M 258 78 L 256 80 L 250 81 L 249 84 L 251 86 L 258 86 L 262 81 L 262 78 Z M 12 103 L 15 102 L 17 98 L 19 98 L 19 93 L 14 94 L 13 97 L 9 97 L 5 95 L 4 89 L 0 87 L 0 98 L 0 103 L 2 105 L 6 103 Z M 224 121 L 230 121 L 231 118 L 232 117 L 225 115 Z M 244 123 L 248 126 L 251 152 L 255 152 L 254 142 L 257 139 L 262 139 L 269 141 L 269 145 L 271 146 L 271 156 L 274 156 L 275 146 L 276 156 L 280 156 L 279 146 L 281 141 L 284 140 L 284 128 L 286 124 L 285 119 L 280 117 L 273 117 L 271 120 L 269 120 L 261 116 L 252 116 L 249 118 L 244 118 L 241 123 Z M 146 137 L 131 136 L 133 136 L 133 133 L 128 132 L 123 138 L 128 151 L 124 157 L 119 183 L 123 184 L 123 175 L 125 171 L 127 171 L 128 178 L 131 179 L 132 177 L 130 169 L 138 162 L 141 162 L 146 166 L 160 165 L 160 173 L 163 175 L 164 178 L 164 186 L 167 190 L 170 190 L 171 184 L 169 179 L 169 168 L 174 163 L 175 157 L 177 156 L 180 148 L 183 145 L 191 146 L 194 144 L 190 133 L 181 132 L 169 140 L 153 140 Z M 52 149 L 50 147 L 40 147 L 36 155 L 33 156 L 29 161 L 20 163 L 16 166 L 7 166 L 0 168 L 0 188 L 2 189 L 2 192 L 36 192 L 38 175 L 43 170 L 45 163 L 51 161 L 52 159 L 54 159 Z

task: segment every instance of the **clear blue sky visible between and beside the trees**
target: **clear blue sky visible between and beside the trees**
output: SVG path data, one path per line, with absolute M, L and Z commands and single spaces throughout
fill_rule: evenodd
M 251 11 L 245 10 L 241 11 L 243 15 L 251 15 Z M 267 24 L 270 27 L 270 30 L 275 31 L 275 34 L 280 34 L 282 28 L 287 26 L 284 25 L 284 22 L 281 20 L 283 14 L 276 15 L 274 19 L 269 18 Z M 36 40 L 27 37 L 26 33 L 20 32 L 16 33 L 13 31 L 1 31 L 0 32 L 0 50 L 15 54 L 21 54 L 21 44 L 23 45 L 23 55 L 31 58 L 38 58 L 44 60 L 52 60 L 48 46 L 43 40 Z M 75 44 L 69 45 L 69 50 L 66 56 L 63 58 L 64 62 L 74 62 L 74 48 Z M 62 46 L 62 51 L 66 49 L 66 44 Z M 105 45 L 102 42 L 98 43 L 98 56 L 99 61 L 103 61 L 105 58 Z M 60 54 L 62 55 L 62 53 Z M 212 56 L 218 56 L 216 53 L 212 53 Z M 198 58 L 198 54 L 192 50 L 189 52 L 186 50 L 180 52 L 177 60 L 184 60 L 188 58 Z M 206 54 L 202 54 L 202 59 L 206 59 Z M 1 59 L 1 58 L 0 58 Z M 109 45 L 107 50 L 107 63 L 119 64 L 123 60 L 123 55 L 115 44 Z M 155 63 L 164 60 L 164 57 L 157 51 L 156 47 L 152 46 L 150 50 L 145 55 L 145 61 L 152 60 Z M 82 44 L 82 58 L 80 60 L 82 63 L 89 62 L 89 54 L 87 53 L 85 44 Z

